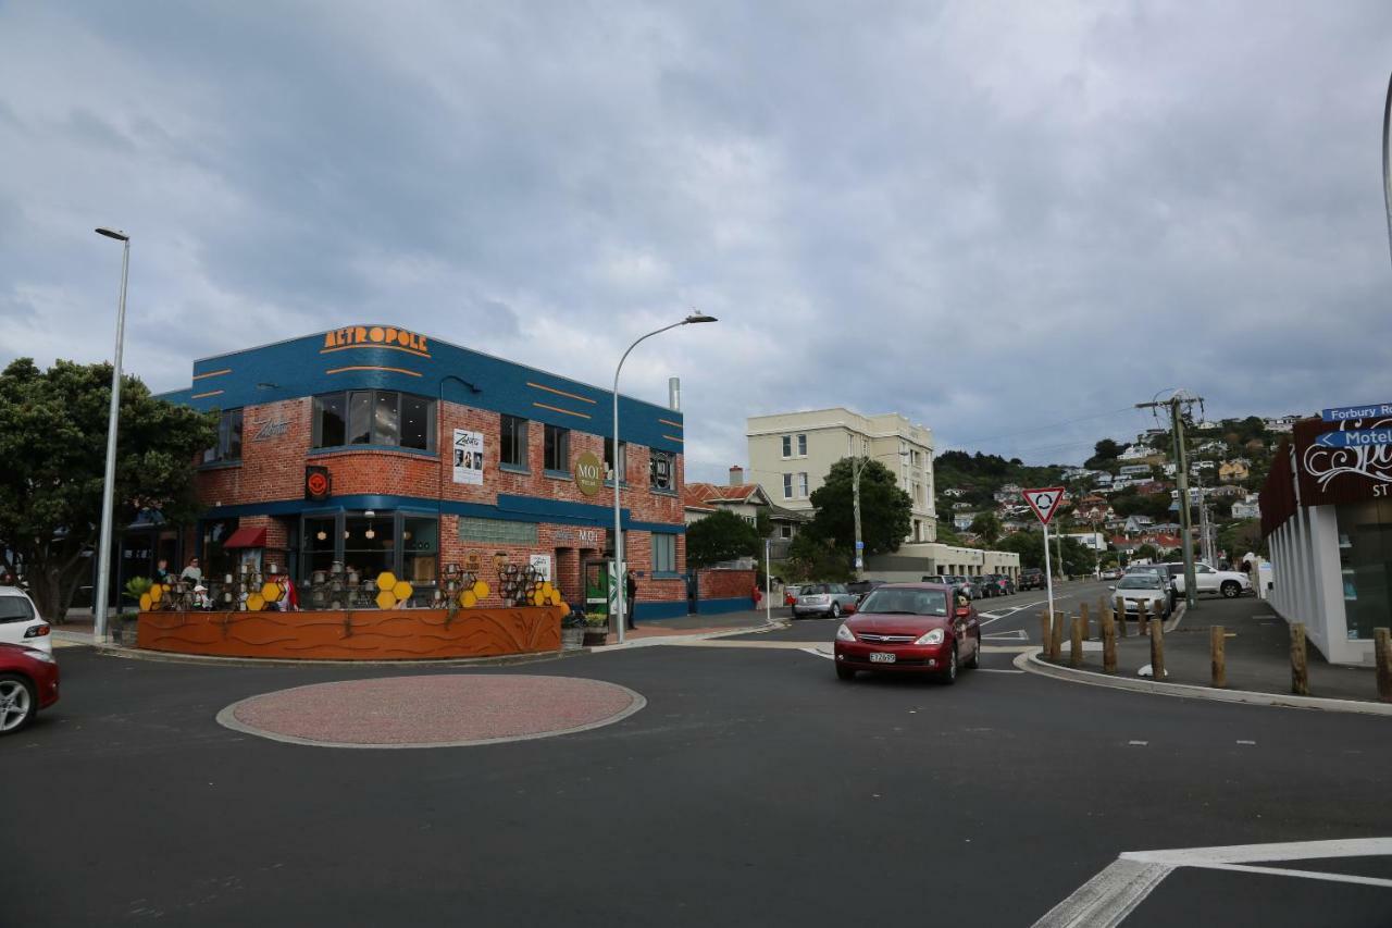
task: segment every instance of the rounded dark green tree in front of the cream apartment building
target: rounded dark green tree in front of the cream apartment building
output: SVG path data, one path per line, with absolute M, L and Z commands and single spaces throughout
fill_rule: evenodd
M 852 506 L 852 461 L 844 457 L 831 465 L 825 482 L 812 495 L 817 516 L 812 528 L 818 538 L 851 552 L 855 548 L 855 516 Z M 860 467 L 860 539 L 864 556 L 899 550 L 909 534 L 913 500 L 895 486 L 894 474 L 880 461 L 864 460 Z

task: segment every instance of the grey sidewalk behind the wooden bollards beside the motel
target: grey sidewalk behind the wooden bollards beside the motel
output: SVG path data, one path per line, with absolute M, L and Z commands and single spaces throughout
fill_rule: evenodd
M 1204 598 L 1197 609 L 1186 610 L 1179 626 L 1165 631 L 1165 683 L 1207 687 L 1212 681 L 1208 641 L 1212 626 L 1224 627 L 1228 690 L 1290 695 L 1290 627 L 1265 601 L 1251 596 Z M 1150 663 L 1150 638 L 1137 634 L 1134 621 L 1126 627 L 1129 635 L 1116 641 L 1116 676 L 1134 680 L 1137 670 Z M 1311 697 L 1378 701 L 1373 667 L 1331 665 L 1314 644 L 1307 647 Z M 1066 638 L 1059 663 L 1068 666 Z M 1089 649 L 1083 669 L 1101 670 L 1101 654 Z

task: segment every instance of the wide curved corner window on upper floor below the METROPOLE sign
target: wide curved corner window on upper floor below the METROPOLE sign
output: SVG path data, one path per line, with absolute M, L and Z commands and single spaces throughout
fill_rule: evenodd
M 315 397 L 315 447 L 383 444 L 434 450 L 436 401 L 395 390 L 349 390 Z

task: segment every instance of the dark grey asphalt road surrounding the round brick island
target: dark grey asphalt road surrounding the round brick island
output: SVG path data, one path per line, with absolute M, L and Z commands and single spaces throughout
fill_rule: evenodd
M 647 705 L 408 751 L 214 722 L 391 669 L 63 651 L 63 702 L 0 738 L 0 924 L 1031 925 L 1123 851 L 1392 835 L 1384 719 L 1076 686 L 1009 655 L 952 687 L 841 683 L 738 645 L 438 669 L 608 680 Z M 1122 924 L 1386 925 L 1374 883 L 1182 868 Z

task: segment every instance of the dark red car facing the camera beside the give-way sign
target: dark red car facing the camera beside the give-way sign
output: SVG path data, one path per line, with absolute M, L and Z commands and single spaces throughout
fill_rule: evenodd
M 837 676 L 857 670 L 928 673 L 955 683 L 981 659 L 981 620 L 944 584 L 877 587 L 837 628 Z

